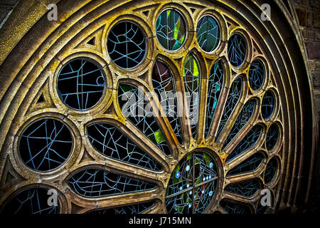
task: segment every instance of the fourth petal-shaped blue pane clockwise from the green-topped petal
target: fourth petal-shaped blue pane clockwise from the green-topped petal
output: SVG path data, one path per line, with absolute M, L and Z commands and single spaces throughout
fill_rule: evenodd
M 245 135 L 245 138 L 243 138 L 240 143 L 235 147 L 235 150 L 233 150 L 225 160 L 226 162 L 232 160 L 235 157 L 238 157 L 238 155 L 242 154 L 246 150 L 248 150 L 250 147 L 254 146 L 257 140 L 260 138 L 260 135 L 262 133 L 262 126 L 261 125 L 255 125 L 247 135 Z

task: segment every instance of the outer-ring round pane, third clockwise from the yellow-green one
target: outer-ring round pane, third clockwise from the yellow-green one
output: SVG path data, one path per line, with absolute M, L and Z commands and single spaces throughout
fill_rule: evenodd
M 249 83 L 252 90 L 259 90 L 265 81 L 265 66 L 260 59 L 252 61 L 249 68 Z

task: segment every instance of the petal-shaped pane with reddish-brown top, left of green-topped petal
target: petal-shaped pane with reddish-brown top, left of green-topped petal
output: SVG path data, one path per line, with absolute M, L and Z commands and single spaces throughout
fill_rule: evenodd
M 161 107 L 166 113 L 169 123 L 174 130 L 178 142 L 182 143 L 181 124 L 177 110 L 176 89 L 174 88 L 174 78 L 168 66 L 160 61 L 156 61 L 152 72 L 152 85 L 158 95 Z

